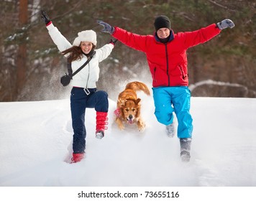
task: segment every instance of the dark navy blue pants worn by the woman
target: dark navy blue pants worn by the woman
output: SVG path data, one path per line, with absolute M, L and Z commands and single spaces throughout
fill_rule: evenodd
M 70 95 L 70 108 L 73 126 L 73 153 L 83 153 L 86 149 L 86 108 L 95 108 L 99 112 L 108 112 L 108 94 L 103 90 L 89 88 L 87 95 L 83 88 L 72 88 Z

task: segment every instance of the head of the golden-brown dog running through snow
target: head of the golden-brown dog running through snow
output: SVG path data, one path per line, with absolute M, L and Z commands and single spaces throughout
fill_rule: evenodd
M 121 116 L 127 123 L 134 123 L 140 116 L 140 101 L 140 98 L 119 100 Z

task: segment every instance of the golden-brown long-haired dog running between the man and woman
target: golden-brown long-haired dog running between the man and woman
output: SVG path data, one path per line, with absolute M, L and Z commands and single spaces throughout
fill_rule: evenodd
M 119 93 L 116 104 L 116 123 L 120 130 L 124 129 L 123 122 L 129 124 L 137 123 L 139 131 L 144 131 L 145 123 L 140 116 L 140 98 L 137 98 L 137 91 L 142 90 L 147 95 L 150 95 L 150 90 L 145 83 L 132 82 L 126 85 L 124 91 Z

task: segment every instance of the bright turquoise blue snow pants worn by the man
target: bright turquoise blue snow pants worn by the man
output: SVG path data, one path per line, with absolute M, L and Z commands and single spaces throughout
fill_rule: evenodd
M 178 119 L 178 138 L 191 138 L 193 125 L 189 112 L 191 91 L 188 87 L 152 88 L 157 121 L 166 126 L 173 123 L 173 112 Z

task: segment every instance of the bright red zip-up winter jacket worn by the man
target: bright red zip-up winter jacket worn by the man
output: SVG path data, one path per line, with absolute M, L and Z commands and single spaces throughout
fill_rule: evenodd
M 194 32 L 170 32 L 167 43 L 157 41 L 153 35 L 138 35 L 115 27 L 113 37 L 125 45 L 145 52 L 152 75 L 152 86 L 188 86 L 188 60 L 186 50 L 204 43 L 221 31 L 216 24 Z

